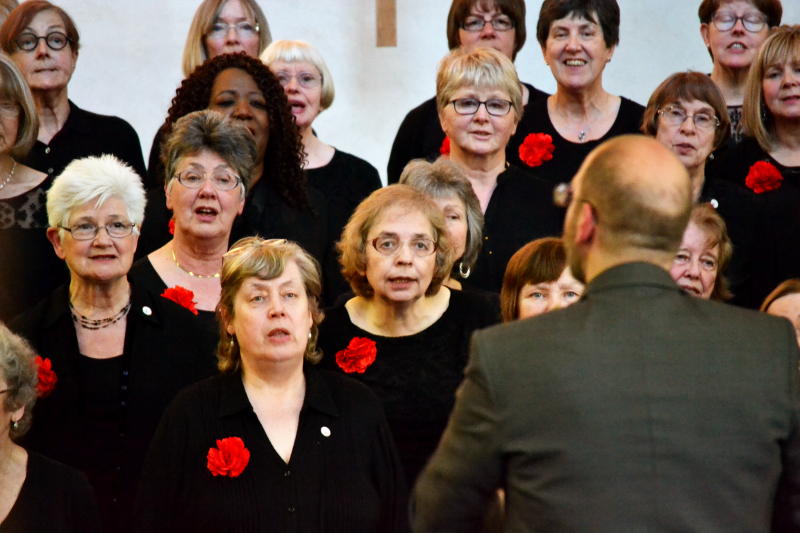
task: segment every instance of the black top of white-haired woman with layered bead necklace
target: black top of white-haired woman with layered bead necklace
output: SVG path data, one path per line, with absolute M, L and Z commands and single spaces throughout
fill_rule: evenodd
M 95 489 L 107 531 L 127 531 L 139 472 L 161 413 L 175 393 L 216 372 L 213 347 L 201 345 L 195 316 L 131 285 L 124 354 L 119 364 L 87 368 L 78 349 L 67 286 L 11 323 L 58 381 L 36 402 L 26 447 L 82 470 Z M 119 354 L 113 354 L 119 355 Z M 87 384 L 89 372 L 112 376 L 116 391 Z M 118 403 L 111 405 L 116 399 Z

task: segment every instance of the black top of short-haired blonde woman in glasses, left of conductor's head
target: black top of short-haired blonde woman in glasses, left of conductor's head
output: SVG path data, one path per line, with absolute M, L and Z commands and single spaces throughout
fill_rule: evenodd
M 565 210 L 553 205 L 553 185 L 511 165 L 497 176 L 497 187 L 484 213 L 483 246 L 471 286 L 500 292 L 506 264 L 533 239 L 559 237 Z

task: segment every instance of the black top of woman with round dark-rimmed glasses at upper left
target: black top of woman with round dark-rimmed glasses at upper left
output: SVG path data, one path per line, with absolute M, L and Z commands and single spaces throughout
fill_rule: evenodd
M 102 154 L 117 156 L 140 177 L 145 176 L 136 130 L 119 117 L 84 111 L 70 100 L 69 115 L 61 130 L 50 139 L 50 144 L 36 141 L 22 163 L 58 176 L 73 159 Z

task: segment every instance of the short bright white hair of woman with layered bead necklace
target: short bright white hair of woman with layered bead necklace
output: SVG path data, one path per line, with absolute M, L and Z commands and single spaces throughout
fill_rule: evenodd
M 135 170 L 109 154 L 75 159 L 47 191 L 47 222 L 51 227 L 66 226 L 76 207 L 97 200 L 99 208 L 111 197 L 125 203 L 131 222 L 142 224 L 147 200 Z

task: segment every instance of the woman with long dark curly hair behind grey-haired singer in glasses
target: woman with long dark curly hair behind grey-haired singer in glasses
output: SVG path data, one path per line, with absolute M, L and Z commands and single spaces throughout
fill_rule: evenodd
M 234 224 L 231 240 L 258 234 L 290 239 L 322 261 L 327 249 L 325 204 L 308 188 L 303 174 L 303 149 L 283 87 L 261 61 L 243 53 L 214 57 L 183 80 L 159 130 L 166 139 L 175 122 L 193 111 L 213 109 L 247 127 L 256 142 L 256 166 L 244 212 Z M 161 143 L 154 145 L 160 153 Z M 168 183 L 161 162 L 151 154 L 150 182 Z M 161 187 L 150 191 L 147 223 L 139 254 L 169 240 L 170 215 Z

